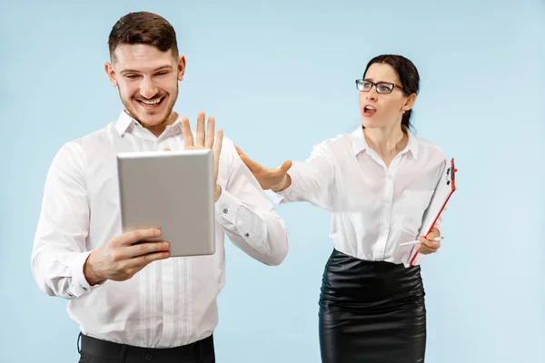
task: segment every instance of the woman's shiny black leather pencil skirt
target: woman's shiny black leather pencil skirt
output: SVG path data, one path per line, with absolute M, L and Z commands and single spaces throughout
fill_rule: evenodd
M 420 266 L 333 250 L 320 295 L 323 363 L 422 363 L 426 308 Z

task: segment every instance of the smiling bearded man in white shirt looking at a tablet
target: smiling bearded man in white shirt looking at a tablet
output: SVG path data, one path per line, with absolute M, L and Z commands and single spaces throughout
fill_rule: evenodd
M 109 48 L 105 71 L 124 111 L 55 155 L 32 271 L 45 293 L 69 301 L 81 329 L 81 361 L 213 362 L 224 234 L 254 259 L 278 265 L 287 254 L 287 232 L 233 142 L 221 130 L 214 142 L 213 118 L 205 132 L 200 113 L 193 136 L 189 121 L 173 112 L 185 58 L 172 25 L 151 13 L 125 15 Z M 116 153 L 183 148 L 213 148 L 213 256 L 169 259 L 168 241 L 134 245 L 160 231 L 121 231 Z

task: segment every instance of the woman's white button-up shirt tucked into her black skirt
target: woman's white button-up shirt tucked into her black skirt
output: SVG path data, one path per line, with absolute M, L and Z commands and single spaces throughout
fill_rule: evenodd
M 416 240 L 445 166 L 439 147 L 408 133 L 407 146 L 390 167 L 369 147 L 362 127 L 326 140 L 305 162 L 293 162 L 290 187 L 267 194 L 277 203 L 308 201 L 331 211 L 336 250 L 407 266 L 416 246 L 400 243 Z M 422 259 L 419 253 L 413 264 Z

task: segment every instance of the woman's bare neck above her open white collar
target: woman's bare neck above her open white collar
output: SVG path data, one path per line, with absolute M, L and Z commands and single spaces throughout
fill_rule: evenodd
M 363 135 L 369 147 L 378 152 L 382 159 L 392 159 L 409 142 L 409 136 L 403 132 L 399 124 L 391 127 L 365 128 Z

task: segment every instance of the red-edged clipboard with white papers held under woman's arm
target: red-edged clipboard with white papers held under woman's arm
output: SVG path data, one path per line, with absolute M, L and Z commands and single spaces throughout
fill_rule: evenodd
M 458 169 L 454 167 L 454 158 L 452 158 L 451 166 L 444 169 L 443 175 L 431 196 L 430 205 L 424 212 L 419 236 L 427 236 L 431 232 L 433 226 L 441 217 L 441 213 L 445 210 L 447 203 L 451 200 L 452 193 L 456 191 L 456 172 L 458 172 Z M 411 252 L 411 254 L 409 266 L 412 266 L 412 263 L 416 260 L 418 252 Z

